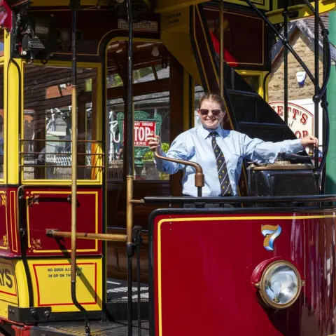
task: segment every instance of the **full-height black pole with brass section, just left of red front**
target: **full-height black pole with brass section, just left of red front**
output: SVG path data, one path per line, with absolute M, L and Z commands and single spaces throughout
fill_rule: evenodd
M 133 231 L 133 15 L 132 0 L 127 0 L 128 72 L 127 72 L 127 322 L 132 336 L 132 231 Z

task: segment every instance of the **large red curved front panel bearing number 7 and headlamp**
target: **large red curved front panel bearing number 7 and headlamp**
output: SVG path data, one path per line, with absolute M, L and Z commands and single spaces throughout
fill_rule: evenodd
M 266 224 L 282 229 L 274 250 L 264 248 L 261 226 Z M 169 214 L 158 216 L 154 227 L 156 336 L 325 336 L 335 332 L 335 218 L 331 211 Z M 260 304 L 251 283 L 255 267 L 274 257 L 295 263 L 306 281 L 295 304 L 280 311 Z

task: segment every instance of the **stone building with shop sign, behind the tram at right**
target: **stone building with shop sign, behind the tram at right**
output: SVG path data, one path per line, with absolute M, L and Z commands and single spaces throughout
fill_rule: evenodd
M 328 14 L 322 15 L 321 19 L 328 29 Z M 288 39 L 290 45 L 307 65 L 311 74 L 315 75 L 314 65 L 314 18 L 305 18 L 290 22 L 288 25 Z M 319 86 L 323 83 L 323 37 L 319 27 Z M 335 61 L 335 46 L 330 43 L 332 61 Z M 272 73 L 269 76 L 268 102 L 273 109 L 283 116 L 284 100 L 284 60 L 283 45 L 278 41 L 272 49 Z M 302 66 L 295 60 L 292 53 L 288 52 L 288 126 L 297 137 L 316 135 L 319 138 L 319 147 L 323 150 L 323 111 L 320 105 L 318 112 L 319 130 L 318 135 L 314 131 L 316 120 L 315 107 L 312 100 L 314 96 L 314 84 L 304 71 Z

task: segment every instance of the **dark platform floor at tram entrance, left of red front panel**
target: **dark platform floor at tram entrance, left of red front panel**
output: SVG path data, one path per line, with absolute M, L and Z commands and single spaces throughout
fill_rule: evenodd
M 127 281 L 107 280 L 107 321 L 90 321 L 92 336 L 127 335 Z M 148 325 L 148 285 L 142 284 L 141 293 L 141 335 L 149 335 Z M 138 334 L 137 283 L 133 283 L 133 335 Z M 31 328 L 31 336 L 78 335 L 85 336 L 84 321 L 43 323 Z

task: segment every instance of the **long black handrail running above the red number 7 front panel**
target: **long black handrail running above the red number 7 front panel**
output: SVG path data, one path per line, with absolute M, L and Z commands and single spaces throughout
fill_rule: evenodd
M 229 197 L 144 197 L 144 203 L 276 203 L 276 202 L 336 202 L 336 195 L 303 196 L 229 196 Z

